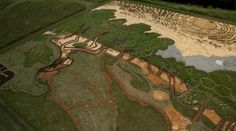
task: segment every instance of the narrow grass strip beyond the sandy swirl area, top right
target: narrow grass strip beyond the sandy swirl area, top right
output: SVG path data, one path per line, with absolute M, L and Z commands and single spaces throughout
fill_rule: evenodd
M 204 17 L 207 19 L 214 19 L 217 21 L 226 22 L 229 24 L 236 25 L 236 11 L 235 10 L 224 10 L 219 8 L 204 8 L 197 5 L 186 5 L 186 4 L 178 4 L 172 3 L 162 0 L 129 0 L 135 1 L 142 4 L 147 4 L 150 6 L 154 6 L 157 8 L 163 8 L 171 11 L 176 11 L 179 13 L 196 15 L 199 17 Z

